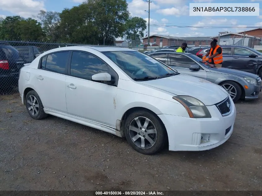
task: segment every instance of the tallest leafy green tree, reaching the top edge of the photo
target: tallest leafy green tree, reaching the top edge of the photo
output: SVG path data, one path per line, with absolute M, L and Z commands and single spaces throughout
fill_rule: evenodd
M 115 37 L 123 37 L 125 23 L 130 13 L 126 0 L 96 0 L 95 24 L 99 30 L 99 42 L 113 44 Z

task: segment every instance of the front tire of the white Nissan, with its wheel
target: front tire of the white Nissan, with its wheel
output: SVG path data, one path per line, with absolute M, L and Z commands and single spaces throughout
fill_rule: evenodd
M 145 120 L 148 124 L 143 127 Z M 140 122 L 141 126 L 138 126 L 137 121 Z M 165 126 L 156 115 L 149 111 L 139 110 L 128 115 L 125 120 L 124 131 L 130 146 L 145 155 L 155 154 L 167 144 L 168 137 Z M 142 140 L 144 140 L 144 146 Z

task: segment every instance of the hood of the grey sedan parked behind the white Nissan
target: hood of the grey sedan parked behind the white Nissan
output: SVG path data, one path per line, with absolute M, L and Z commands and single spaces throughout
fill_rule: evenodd
M 236 69 L 229 69 L 229 68 L 209 68 L 210 72 L 215 72 L 215 73 L 223 73 L 231 76 L 238 76 L 238 77 L 251 77 L 256 79 L 258 76 L 249 73 L 249 72 L 244 72 Z

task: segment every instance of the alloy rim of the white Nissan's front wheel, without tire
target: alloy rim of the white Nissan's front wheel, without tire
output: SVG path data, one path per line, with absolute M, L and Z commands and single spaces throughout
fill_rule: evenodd
M 157 129 L 153 122 L 143 116 L 134 118 L 129 125 L 132 142 L 141 149 L 149 149 L 157 141 Z

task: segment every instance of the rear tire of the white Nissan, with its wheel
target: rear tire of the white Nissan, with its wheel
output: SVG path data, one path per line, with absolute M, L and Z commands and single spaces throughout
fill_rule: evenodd
M 25 106 L 28 114 L 35 120 L 44 119 L 48 116 L 48 114 L 44 112 L 44 107 L 39 95 L 34 90 L 26 94 Z

